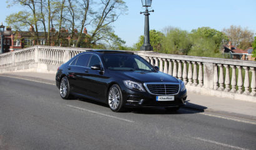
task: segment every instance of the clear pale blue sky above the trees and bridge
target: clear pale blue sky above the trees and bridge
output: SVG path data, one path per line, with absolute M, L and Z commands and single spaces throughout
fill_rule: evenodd
M 6 26 L 6 16 L 23 10 L 19 6 L 6 8 L 6 0 L 0 0 L 0 22 Z M 113 24 L 115 34 L 133 46 L 144 34 L 145 16 L 141 0 L 123 0 L 128 6 L 126 15 Z M 150 29 L 163 31 L 165 27 L 178 27 L 191 31 L 198 27 L 211 27 L 222 31 L 231 25 L 247 27 L 256 32 L 256 0 L 153 0 L 150 12 Z M 150 9 L 150 10 L 151 10 Z M 88 28 L 88 30 L 90 30 Z

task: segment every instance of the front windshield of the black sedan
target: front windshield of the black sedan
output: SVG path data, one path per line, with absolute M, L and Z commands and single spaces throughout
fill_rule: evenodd
M 134 54 L 104 54 L 105 67 L 118 71 L 155 71 L 145 59 Z

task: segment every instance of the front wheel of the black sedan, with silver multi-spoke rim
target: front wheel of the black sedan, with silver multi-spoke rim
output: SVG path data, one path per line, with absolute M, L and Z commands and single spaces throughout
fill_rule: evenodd
M 108 106 L 110 106 L 111 111 L 121 112 L 123 111 L 123 94 L 121 89 L 117 84 L 113 84 L 108 91 Z

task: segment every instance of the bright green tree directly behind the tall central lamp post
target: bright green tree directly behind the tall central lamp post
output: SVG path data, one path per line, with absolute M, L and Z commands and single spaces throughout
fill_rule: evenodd
M 150 30 L 150 44 L 153 47 L 154 51 L 161 51 L 161 42 L 165 38 L 165 34 L 160 31 L 156 31 L 155 29 Z M 144 36 L 139 37 L 139 41 L 135 44 L 135 49 L 140 50 L 140 47 L 143 45 Z

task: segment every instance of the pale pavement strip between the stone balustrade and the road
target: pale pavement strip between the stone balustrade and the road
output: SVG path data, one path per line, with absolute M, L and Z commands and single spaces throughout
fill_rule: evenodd
M 34 72 L 0 74 L 0 76 L 12 76 L 14 78 L 29 79 L 49 84 L 55 84 L 55 75 L 56 74 Z M 256 103 L 199 95 L 190 91 L 187 92 L 187 95 L 188 102 L 185 108 L 192 109 L 192 111 L 210 112 L 233 116 L 234 118 L 256 120 Z

